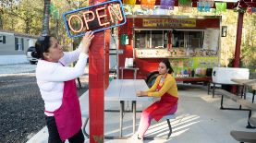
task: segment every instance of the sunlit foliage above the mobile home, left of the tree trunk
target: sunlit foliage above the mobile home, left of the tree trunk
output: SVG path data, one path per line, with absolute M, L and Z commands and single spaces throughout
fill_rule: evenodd
M 34 34 L 38 20 L 42 19 L 43 5 L 33 0 L 11 1 L 3 7 L 3 29 Z

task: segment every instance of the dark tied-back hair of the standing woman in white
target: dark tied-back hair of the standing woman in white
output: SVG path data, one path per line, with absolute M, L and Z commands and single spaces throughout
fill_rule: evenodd
M 38 38 L 35 42 L 35 51 L 31 52 L 31 56 L 43 59 L 43 53 L 49 52 L 51 46 L 50 38 L 51 36 L 42 36 Z

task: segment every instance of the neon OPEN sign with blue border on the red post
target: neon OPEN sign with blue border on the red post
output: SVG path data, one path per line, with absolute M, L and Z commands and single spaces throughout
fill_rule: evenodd
M 70 38 L 83 36 L 85 30 L 98 32 L 121 26 L 127 22 L 120 0 L 86 6 L 63 14 Z

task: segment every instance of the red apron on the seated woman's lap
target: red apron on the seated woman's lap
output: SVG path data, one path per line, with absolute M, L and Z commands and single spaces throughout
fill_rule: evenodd
M 157 90 L 162 87 L 157 86 Z M 155 121 L 159 121 L 163 116 L 167 114 L 176 113 L 177 111 L 177 97 L 174 97 L 168 93 L 165 93 L 160 101 L 155 101 L 144 112 L 149 113 Z

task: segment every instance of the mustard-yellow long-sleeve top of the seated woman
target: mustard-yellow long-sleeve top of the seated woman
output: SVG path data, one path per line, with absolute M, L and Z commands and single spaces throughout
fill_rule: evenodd
M 157 91 L 157 85 L 160 83 L 162 75 L 156 77 L 154 84 L 152 85 L 151 89 L 148 89 L 148 96 L 151 97 L 161 97 L 163 96 L 166 92 L 174 97 L 177 97 L 177 84 L 175 78 L 167 74 L 165 77 L 165 81 L 163 83 L 162 88 Z

